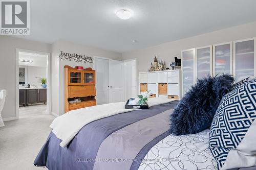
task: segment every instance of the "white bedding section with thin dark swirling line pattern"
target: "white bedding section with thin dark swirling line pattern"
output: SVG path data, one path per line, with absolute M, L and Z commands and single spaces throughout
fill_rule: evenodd
M 218 169 L 208 139 L 209 129 L 193 135 L 169 135 L 146 154 L 139 170 Z

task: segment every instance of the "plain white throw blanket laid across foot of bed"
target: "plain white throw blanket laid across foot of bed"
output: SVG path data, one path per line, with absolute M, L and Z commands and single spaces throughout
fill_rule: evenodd
M 152 107 L 171 101 L 174 100 L 165 98 L 151 98 L 148 99 L 148 106 Z M 57 136 L 57 138 L 62 140 L 59 145 L 61 147 L 66 147 L 67 144 L 79 132 L 79 130 L 85 125 L 104 117 L 137 110 L 124 109 L 124 105 L 125 102 L 119 102 L 72 110 L 66 114 L 56 117 L 53 120 L 53 123 L 50 125 L 50 128 L 53 129 L 52 132 Z

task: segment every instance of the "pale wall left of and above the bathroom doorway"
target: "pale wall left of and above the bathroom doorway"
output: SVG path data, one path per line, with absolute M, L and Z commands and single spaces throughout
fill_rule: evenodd
M 16 118 L 16 48 L 51 53 L 51 45 L 10 36 L 0 36 L 0 89 L 7 90 L 2 112 L 5 120 Z

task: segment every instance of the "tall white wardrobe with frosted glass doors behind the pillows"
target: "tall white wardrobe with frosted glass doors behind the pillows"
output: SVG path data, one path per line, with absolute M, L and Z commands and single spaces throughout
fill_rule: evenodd
M 231 74 L 235 81 L 256 76 L 256 38 L 181 51 L 182 96 L 197 78 Z

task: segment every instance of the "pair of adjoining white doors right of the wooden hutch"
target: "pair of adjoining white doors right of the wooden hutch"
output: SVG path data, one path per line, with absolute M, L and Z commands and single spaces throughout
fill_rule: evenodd
M 124 63 L 94 57 L 97 105 L 124 101 Z

